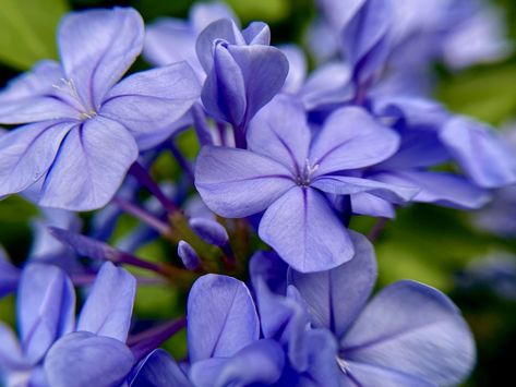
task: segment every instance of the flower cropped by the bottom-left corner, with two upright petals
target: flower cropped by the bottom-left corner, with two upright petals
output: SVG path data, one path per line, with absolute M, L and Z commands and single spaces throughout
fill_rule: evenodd
M 19 343 L 0 324 L 0 376 L 8 386 L 112 386 L 131 371 L 125 346 L 136 282 L 106 263 L 75 324 L 75 293 L 57 266 L 31 264 L 17 293 Z

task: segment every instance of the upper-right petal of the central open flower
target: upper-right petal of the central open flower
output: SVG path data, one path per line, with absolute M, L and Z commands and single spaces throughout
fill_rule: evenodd
M 369 167 L 392 156 L 398 135 L 379 123 L 365 110 L 346 107 L 336 110 L 312 143 L 310 161 L 319 165 L 317 176 Z

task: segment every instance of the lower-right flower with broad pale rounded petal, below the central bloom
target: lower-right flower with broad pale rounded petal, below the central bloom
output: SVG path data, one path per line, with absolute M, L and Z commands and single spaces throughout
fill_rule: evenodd
M 364 237 L 352 239 L 353 259 L 328 271 L 302 274 L 272 254 L 253 257 L 262 330 L 283 342 L 289 359 L 278 385 L 458 384 L 472 367 L 475 346 L 457 307 L 440 291 L 408 280 L 368 302 L 376 261 Z

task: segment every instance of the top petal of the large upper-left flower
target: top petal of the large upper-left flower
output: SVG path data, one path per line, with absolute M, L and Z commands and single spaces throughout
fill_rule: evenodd
M 58 45 L 67 78 L 83 105 L 96 110 L 143 48 L 142 16 L 132 8 L 72 12 Z

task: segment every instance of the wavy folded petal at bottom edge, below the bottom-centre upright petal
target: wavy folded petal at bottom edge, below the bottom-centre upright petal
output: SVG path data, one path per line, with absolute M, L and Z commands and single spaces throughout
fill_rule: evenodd
M 207 359 L 190 368 L 190 377 L 199 387 L 272 385 L 284 367 L 281 347 L 273 340 L 259 340 L 230 359 Z

